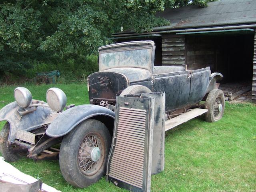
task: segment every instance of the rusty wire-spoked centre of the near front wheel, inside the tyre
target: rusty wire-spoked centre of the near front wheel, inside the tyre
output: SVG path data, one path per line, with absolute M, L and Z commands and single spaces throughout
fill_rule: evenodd
M 85 175 L 92 175 L 102 166 L 105 146 L 96 134 L 87 134 L 78 149 L 78 166 Z

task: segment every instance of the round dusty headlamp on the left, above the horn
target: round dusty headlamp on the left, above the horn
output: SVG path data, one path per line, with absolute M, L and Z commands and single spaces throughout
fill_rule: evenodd
M 20 107 L 26 108 L 31 103 L 32 94 L 27 88 L 17 87 L 14 90 L 14 98 Z

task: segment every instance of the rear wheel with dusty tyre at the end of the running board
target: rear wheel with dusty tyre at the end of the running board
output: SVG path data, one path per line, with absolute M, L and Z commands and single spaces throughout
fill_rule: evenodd
M 224 93 L 220 89 L 213 89 L 208 94 L 205 101 L 205 108 L 208 112 L 205 114 L 207 122 L 216 122 L 220 120 L 224 113 L 225 98 Z

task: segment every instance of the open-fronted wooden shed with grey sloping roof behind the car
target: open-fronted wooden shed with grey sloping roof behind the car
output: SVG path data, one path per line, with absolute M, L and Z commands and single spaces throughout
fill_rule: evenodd
M 154 40 L 155 65 L 210 66 L 226 82 L 252 85 L 256 103 L 256 0 L 220 0 L 205 8 L 186 6 L 158 13 L 170 26 L 136 34 L 127 30 L 113 34 L 116 42 Z

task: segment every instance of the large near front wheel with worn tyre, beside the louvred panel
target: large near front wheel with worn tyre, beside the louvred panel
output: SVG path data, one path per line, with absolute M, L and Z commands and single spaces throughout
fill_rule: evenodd
M 65 180 L 80 188 L 97 182 L 105 173 L 110 145 L 110 133 L 102 122 L 88 119 L 76 126 L 60 146 L 60 170 Z

